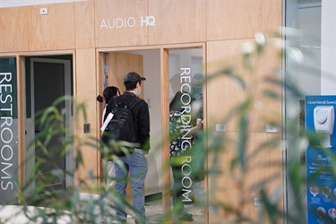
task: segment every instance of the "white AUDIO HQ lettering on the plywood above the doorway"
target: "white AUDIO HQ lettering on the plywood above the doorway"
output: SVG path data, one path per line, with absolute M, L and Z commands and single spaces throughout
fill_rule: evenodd
M 132 16 L 128 18 L 117 17 L 113 19 L 102 19 L 100 22 L 100 29 L 134 28 L 135 26 L 155 26 L 155 17 L 152 15 L 140 16 L 138 19 Z

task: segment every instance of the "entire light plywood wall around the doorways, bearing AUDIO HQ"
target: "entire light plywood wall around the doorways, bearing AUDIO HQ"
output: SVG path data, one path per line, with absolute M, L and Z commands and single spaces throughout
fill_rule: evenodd
M 40 15 L 41 7 L 48 8 L 47 15 Z M 229 115 L 230 109 L 242 103 L 246 97 L 252 97 L 253 104 L 249 114 L 248 134 L 250 140 L 248 151 L 254 151 L 257 144 L 278 137 L 265 133 L 265 125 L 280 122 L 280 101 L 268 99 L 264 90 L 277 90 L 265 78 L 273 74 L 275 65 L 280 65 L 275 56 L 275 49 L 265 52 L 263 57 L 254 61 L 254 70 L 243 67 L 241 47 L 245 42 L 254 41 L 258 31 L 270 32 L 281 26 L 281 0 L 208 0 L 208 1 L 143 1 L 143 0 L 88 0 L 77 3 L 44 4 L 16 8 L 0 8 L 0 56 L 16 54 L 30 56 L 35 51 L 74 49 L 75 54 L 75 92 L 77 102 L 87 105 L 88 119 L 82 116 L 76 125 L 76 132 L 83 138 L 99 136 L 99 107 L 96 96 L 99 92 L 100 69 L 96 65 L 97 51 L 105 47 L 153 47 L 179 43 L 192 46 L 205 43 L 206 75 L 219 71 L 223 66 L 233 66 L 237 78 L 246 86 L 243 88 L 239 79 L 222 75 L 215 82 L 209 82 L 206 92 L 207 124 L 225 125 L 226 133 L 237 139 L 237 116 L 228 121 L 223 117 Z M 153 18 L 154 21 L 153 21 Z M 163 51 L 161 51 L 163 52 Z M 112 54 L 107 60 L 113 60 Z M 109 71 L 111 73 L 111 71 Z M 116 83 L 121 82 L 112 75 Z M 279 77 L 278 77 L 279 78 Z M 119 83 L 120 84 L 120 83 Z M 280 90 L 280 89 L 279 89 Z M 280 92 L 278 92 L 280 93 Z M 167 92 L 168 94 L 168 92 Z M 232 97 L 234 96 L 234 97 Z M 90 134 L 83 134 L 82 125 L 89 123 Z M 99 154 L 82 148 L 84 167 L 80 177 L 89 178 L 88 170 L 99 174 Z M 226 163 L 235 156 L 235 151 L 223 151 L 220 155 L 223 170 Z M 281 159 L 280 152 L 271 155 L 263 154 L 254 159 L 252 166 L 260 161 Z M 247 185 L 253 185 L 263 177 L 271 176 L 279 170 L 262 170 L 254 166 L 256 171 L 246 178 Z M 282 174 L 280 174 L 282 175 Z M 225 185 L 222 185 L 225 183 Z M 231 202 L 239 196 L 237 183 L 230 180 L 228 172 L 210 181 L 213 185 L 222 186 L 224 191 L 210 194 L 211 202 L 224 198 Z M 278 182 L 278 184 L 280 184 Z M 256 194 L 248 194 L 250 200 Z M 239 201 L 237 201 L 239 202 Z M 246 213 L 254 216 L 256 211 L 252 203 L 246 205 Z M 228 219 L 225 212 L 221 216 L 211 213 L 209 223 Z

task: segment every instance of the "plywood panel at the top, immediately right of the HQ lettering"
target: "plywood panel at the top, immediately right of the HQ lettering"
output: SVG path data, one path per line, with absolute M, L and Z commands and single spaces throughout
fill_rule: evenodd
M 149 1 L 148 13 L 155 16 L 149 44 L 205 41 L 206 8 L 206 1 Z

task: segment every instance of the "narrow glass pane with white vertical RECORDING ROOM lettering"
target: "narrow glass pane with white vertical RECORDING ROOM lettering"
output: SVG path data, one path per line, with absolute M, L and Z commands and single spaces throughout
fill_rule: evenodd
M 172 220 L 203 222 L 202 49 L 169 51 Z

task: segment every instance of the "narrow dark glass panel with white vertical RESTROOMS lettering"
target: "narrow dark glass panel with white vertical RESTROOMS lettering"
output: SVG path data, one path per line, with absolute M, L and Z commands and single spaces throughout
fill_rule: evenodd
M 0 58 L 0 204 L 17 203 L 16 58 Z

